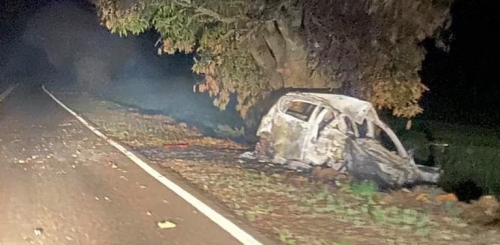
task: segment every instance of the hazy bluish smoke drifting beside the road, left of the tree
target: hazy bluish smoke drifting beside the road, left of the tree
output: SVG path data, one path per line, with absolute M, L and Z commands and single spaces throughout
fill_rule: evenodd
M 201 77 L 192 57 L 158 56 L 154 32 L 122 38 L 99 24 L 92 6 L 54 2 L 26 24 L 22 40 L 43 57 L 51 86 L 79 86 L 122 105 L 171 116 L 212 134 L 219 125 L 243 125 L 234 110 L 219 111 L 206 94 L 194 93 Z M 26 63 L 26 60 L 23 61 Z M 22 62 L 21 62 L 22 63 Z M 18 66 L 14 64 L 13 66 Z

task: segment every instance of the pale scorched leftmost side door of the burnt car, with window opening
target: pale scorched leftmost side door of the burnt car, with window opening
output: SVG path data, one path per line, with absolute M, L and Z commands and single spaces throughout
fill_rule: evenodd
M 290 160 L 302 160 L 305 140 L 311 128 L 311 121 L 317 114 L 317 105 L 301 99 L 283 103 L 273 120 L 271 134 L 274 155 Z

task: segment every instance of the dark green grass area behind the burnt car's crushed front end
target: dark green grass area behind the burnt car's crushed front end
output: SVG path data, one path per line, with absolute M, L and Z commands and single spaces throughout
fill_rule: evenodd
M 442 166 L 442 187 L 451 189 L 472 180 L 485 194 L 500 197 L 498 130 L 424 120 L 415 120 L 412 129 L 406 130 L 404 123 L 391 122 L 407 148 L 415 149 L 417 160 L 427 161 L 432 156 L 435 164 Z

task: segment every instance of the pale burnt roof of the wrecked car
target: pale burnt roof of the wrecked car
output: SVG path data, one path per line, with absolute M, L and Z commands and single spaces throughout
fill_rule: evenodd
M 362 124 L 364 119 L 376 120 L 378 119 L 377 112 L 373 105 L 364 100 L 340 94 L 328 93 L 306 93 L 306 92 L 290 92 L 285 96 L 296 97 L 313 102 L 321 101 L 331 107 L 339 110 L 341 113 L 347 115 L 356 123 Z

